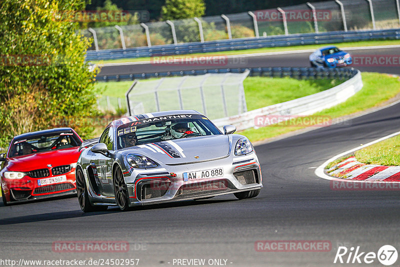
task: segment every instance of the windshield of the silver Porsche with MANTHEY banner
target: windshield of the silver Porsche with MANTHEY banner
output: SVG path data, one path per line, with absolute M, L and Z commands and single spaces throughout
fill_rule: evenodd
M 206 117 L 197 114 L 159 116 L 120 125 L 118 149 L 187 137 L 222 134 Z

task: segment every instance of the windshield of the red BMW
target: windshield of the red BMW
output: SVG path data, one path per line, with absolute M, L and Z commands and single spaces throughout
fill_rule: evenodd
M 72 131 L 35 134 L 23 139 L 14 140 L 9 156 L 20 156 L 38 152 L 79 146 L 80 139 Z

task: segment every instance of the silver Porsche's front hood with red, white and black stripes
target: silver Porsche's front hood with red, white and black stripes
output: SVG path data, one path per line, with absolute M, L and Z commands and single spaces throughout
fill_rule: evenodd
M 229 155 L 228 135 L 209 135 L 136 145 L 122 149 L 124 154 L 137 153 L 165 164 L 212 160 Z

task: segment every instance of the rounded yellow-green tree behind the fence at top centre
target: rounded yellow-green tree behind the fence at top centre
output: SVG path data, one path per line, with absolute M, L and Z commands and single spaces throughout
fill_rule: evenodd
M 161 7 L 162 20 L 183 19 L 203 16 L 205 4 L 203 0 L 166 0 Z

